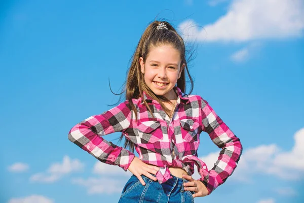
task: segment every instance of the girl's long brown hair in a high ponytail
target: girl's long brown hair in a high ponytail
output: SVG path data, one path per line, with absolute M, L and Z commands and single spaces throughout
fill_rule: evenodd
M 160 23 L 164 23 L 168 29 L 157 29 L 157 26 Z M 168 110 L 163 103 L 171 101 L 167 99 L 165 96 L 156 95 L 153 91 L 149 89 L 149 87 L 144 82 L 144 75 L 140 71 L 140 63 L 139 58 L 142 57 L 143 61 L 146 61 L 147 55 L 149 53 L 149 50 L 151 47 L 157 47 L 162 45 L 170 45 L 177 49 L 180 53 L 180 59 L 181 64 L 184 63 L 184 69 L 181 72 L 180 78 L 177 80 L 177 87 L 182 91 L 185 92 L 186 90 L 186 77 L 185 72 L 188 75 L 189 82 L 191 84 L 191 88 L 189 91 L 189 94 L 191 94 L 193 90 L 193 79 L 188 71 L 188 65 L 186 60 L 186 49 L 183 39 L 180 37 L 180 35 L 177 33 L 177 31 L 174 29 L 174 27 L 167 21 L 153 21 L 151 22 L 147 28 L 144 30 L 137 47 L 135 49 L 135 52 L 131 58 L 131 65 L 128 70 L 128 76 L 127 80 L 124 83 L 125 84 L 125 90 L 126 91 L 126 100 L 129 101 L 129 105 L 131 109 L 134 112 L 137 112 L 136 107 L 133 104 L 132 98 L 142 98 L 142 101 L 144 105 L 146 106 L 147 110 L 153 115 L 151 112 L 151 109 L 149 108 L 148 104 L 146 103 L 145 99 L 143 99 L 143 91 L 148 94 L 151 98 L 157 100 L 161 107 L 164 109 L 164 111 L 169 114 L 170 110 Z M 189 58 L 192 57 L 192 54 L 189 54 Z M 137 114 L 135 113 L 135 119 L 137 120 Z M 122 134 L 119 138 L 119 141 L 121 141 L 124 138 L 124 135 Z M 134 144 L 126 139 L 124 147 L 134 152 Z

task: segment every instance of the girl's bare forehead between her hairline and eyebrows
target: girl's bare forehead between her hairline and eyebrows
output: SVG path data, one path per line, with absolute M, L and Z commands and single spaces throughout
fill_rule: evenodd
M 147 61 L 156 60 L 156 61 L 171 61 L 177 62 L 180 61 L 180 53 L 177 49 L 170 45 L 162 45 L 156 47 L 150 47 L 149 53 L 146 58 Z

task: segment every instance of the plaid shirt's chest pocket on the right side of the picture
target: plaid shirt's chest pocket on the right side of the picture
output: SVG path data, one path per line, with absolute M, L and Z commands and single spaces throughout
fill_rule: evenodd
M 198 133 L 200 124 L 193 119 L 180 119 L 181 134 L 184 141 L 198 141 Z

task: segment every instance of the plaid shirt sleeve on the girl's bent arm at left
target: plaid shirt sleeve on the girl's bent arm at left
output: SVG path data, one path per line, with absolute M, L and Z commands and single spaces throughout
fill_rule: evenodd
M 127 129 L 131 123 L 131 115 L 128 101 L 125 101 L 109 111 L 78 123 L 69 131 L 68 139 L 99 161 L 118 165 L 127 171 L 135 155 L 101 136 Z

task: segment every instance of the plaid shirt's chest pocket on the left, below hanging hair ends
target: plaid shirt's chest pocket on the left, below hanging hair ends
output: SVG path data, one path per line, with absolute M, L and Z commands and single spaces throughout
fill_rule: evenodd
M 155 143 L 163 139 L 159 121 L 139 121 L 137 129 L 140 138 L 140 143 L 138 142 L 138 144 Z

